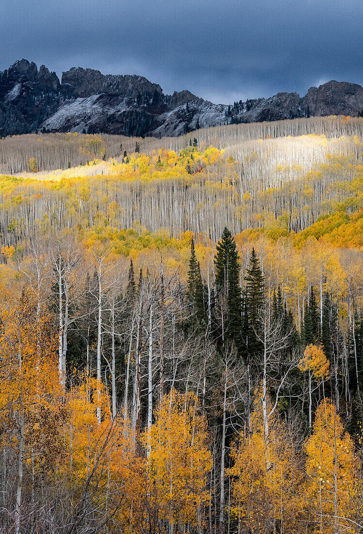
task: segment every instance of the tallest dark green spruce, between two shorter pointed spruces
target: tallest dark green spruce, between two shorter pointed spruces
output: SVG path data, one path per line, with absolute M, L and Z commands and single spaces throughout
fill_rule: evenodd
M 217 294 L 224 296 L 227 304 L 225 334 L 241 352 L 241 288 L 239 286 L 239 256 L 236 241 L 227 227 L 217 243 L 214 256 L 215 285 Z

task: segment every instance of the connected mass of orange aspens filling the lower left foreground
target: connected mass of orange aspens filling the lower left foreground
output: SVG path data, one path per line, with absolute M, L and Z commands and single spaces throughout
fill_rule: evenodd
M 151 505 L 170 524 L 200 524 L 212 459 L 196 395 L 164 396 L 139 457 L 130 422 L 122 414 L 112 419 L 103 384 L 74 375 L 63 391 L 57 332 L 33 292 L 4 306 L 0 319 L 1 443 L 21 452 L 23 469 L 33 473 L 23 491 L 62 481 L 75 513 L 92 502 L 95 515 L 112 516 L 109 531 L 142 530 Z

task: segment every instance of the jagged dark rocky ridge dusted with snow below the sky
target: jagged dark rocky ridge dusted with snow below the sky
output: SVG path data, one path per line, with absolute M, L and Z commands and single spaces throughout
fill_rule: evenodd
M 304 97 L 277 93 L 225 106 L 186 90 L 164 95 L 160 85 L 136 75 L 73 67 L 60 83 L 54 72 L 26 59 L 0 73 L 0 136 L 36 131 L 176 136 L 231 122 L 356 116 L 362 109 L 363 88 L 348 82 L 311 87 Z

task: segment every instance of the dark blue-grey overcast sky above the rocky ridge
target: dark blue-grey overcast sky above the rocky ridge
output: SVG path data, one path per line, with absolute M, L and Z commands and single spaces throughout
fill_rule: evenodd
M 363 84 L 363 0 L 0 0 L 0 69 L 140 74 L 214 103 Z

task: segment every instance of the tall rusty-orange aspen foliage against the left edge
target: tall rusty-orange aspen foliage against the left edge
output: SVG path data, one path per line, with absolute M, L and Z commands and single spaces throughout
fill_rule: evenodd
M 21 435 L 23 457 L 35 473 L 45 476 L 64 449 L 64 413 L 57 336 L 30 289 L 22 291 L 18 302 L 8 300 L 0 309 L 0 357 L 2 445 L 17 447 Z

